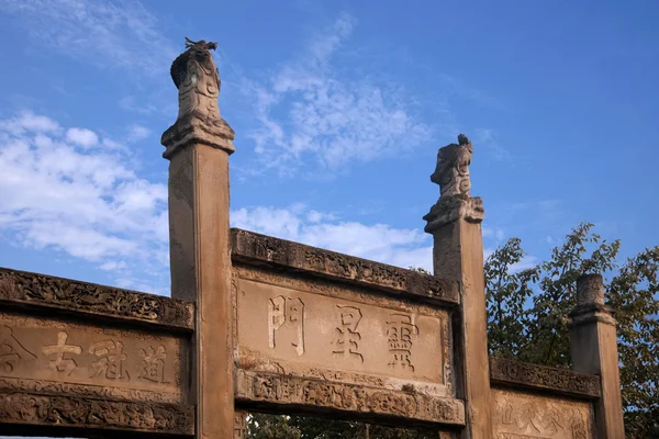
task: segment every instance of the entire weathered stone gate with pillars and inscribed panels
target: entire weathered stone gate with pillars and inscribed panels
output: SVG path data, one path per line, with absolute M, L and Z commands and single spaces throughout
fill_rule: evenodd
M 171 66 L 171 299 L 0 270 L 0 432 L 242 438 L 246 410 L 442 438 L 623 438 L 615 320 L 582 277 L 574 370 L 489 358 L 470 140 L 439 149 L 434 275 L 231 229 L 211 49 Z

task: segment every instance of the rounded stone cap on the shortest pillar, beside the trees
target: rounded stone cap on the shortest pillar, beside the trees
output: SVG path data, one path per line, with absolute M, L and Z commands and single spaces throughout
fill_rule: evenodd
M 604 279 L 602 274 L 582 274 L 577 279 L 577 306 L 570 312 L 570 326 L 592 322 L 615 325 L 614 311 L 604 305 Z

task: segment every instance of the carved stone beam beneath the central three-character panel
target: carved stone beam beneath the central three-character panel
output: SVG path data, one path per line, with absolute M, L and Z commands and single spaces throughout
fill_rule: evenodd
M 461 401 L 421 393 L 377 390 L 265 372 L 238 370 L 236 399 L 319 412 L 406 418 L 410 421 L 463 425 Z

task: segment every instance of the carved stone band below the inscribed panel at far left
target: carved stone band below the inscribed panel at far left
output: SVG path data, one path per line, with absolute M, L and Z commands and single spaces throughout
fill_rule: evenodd
M 192 435 L 194 407 L 175 404 L 124 403 L 29 393 L 0 394 L 0 419 L 8 424 Z

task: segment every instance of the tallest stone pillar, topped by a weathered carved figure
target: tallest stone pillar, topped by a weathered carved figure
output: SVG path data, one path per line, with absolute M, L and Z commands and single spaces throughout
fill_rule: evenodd
M 171 66 L 179 114 L 161 138 L 169 164 L 171 296 L 196 302 L 190 397 L 197 438 L 234 435 L 228 156 L 234 132 L 220 116 L 210 49 L 188 41 Z

